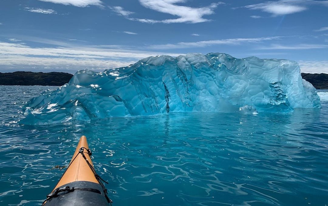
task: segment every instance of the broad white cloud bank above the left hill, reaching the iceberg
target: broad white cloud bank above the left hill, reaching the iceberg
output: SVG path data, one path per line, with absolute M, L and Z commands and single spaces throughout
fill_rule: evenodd
M 72 46 L 72 45 L 71 45 Z M 0 69 L 51 68 L 55 70 L 84 68 L 115 68 L 128 66 L 139 59 L 155 55 L 180 54 L 112 49 L 118 45 L 95 45 L 89 47 L 30 47 L 19 43 L 0 42 Z M 73 71 L 73 72 L 74 72 Z

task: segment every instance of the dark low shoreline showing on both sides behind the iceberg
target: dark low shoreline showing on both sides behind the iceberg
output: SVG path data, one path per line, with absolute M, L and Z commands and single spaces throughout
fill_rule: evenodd
M 301 73 L 302 78 L 316 89 L 328 89 L 328 74 Z M 0 85 L 9 86 L 62 86 L 70 81 L 73 74 L 65 72 L 0 72 Z

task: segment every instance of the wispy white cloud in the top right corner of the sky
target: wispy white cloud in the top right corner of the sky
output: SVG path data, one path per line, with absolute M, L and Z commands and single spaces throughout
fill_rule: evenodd
M 261 10 L 263 12 L 271 13 L 273 16 L 279 16 L 305 11 L 308 9 L 307 6 L 311 4 L 328 6 L 328 1 L 278 0 L 247 5 L 244 8 L 248 8 L 251 10 Z

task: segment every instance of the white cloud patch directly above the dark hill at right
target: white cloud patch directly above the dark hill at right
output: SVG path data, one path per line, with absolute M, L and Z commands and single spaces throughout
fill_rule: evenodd
M 298 61 L 303 73 L 328 73 L 328 61 Z

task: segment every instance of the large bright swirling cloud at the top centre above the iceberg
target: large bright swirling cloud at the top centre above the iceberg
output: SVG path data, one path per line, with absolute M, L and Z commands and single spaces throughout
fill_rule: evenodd
M 207 7 L 193 8 L 188 6 L 176 5 L 177 3 L 184 3 L 185 0 L 139 0 L 140 4 L 148 9 L 155 10 L 161 13 L 171 14 L 177 16 L 174 19 L 154 20 L 147 18 L 133 18 L 132 11 L 124 10 L 122 7 L 111 7 L 117 14 L 126 17 L 129 20 L 139 21 L 143 23 L 200 23 L 211 21 L 205 19 L 203 16 L 214 14 L 214 9 L 218 5 L 225 4 L 223 2 L 212 3 Z

